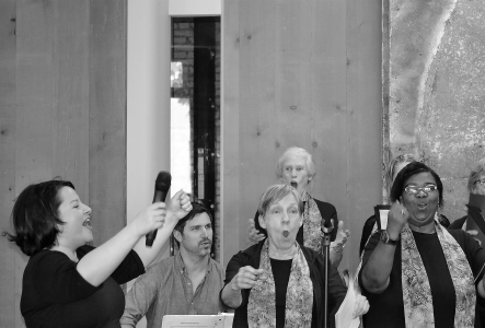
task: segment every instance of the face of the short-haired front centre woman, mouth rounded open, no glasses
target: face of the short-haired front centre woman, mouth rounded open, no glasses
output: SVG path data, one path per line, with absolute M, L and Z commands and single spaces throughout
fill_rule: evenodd
M 264 218 L 259 216 L 259 224 L 266 229 L 269 243 L 279 248 L 292 246 L 302 224 L 295 195 L 288 194 L 278 202 L 273 203 Z

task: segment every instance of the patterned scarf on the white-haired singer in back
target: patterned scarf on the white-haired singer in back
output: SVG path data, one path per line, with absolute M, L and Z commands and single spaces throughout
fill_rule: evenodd
M 322 214 L 315 200 L 305 192 L 303 195 L 303 245 L 317 253 L 322 250 Z

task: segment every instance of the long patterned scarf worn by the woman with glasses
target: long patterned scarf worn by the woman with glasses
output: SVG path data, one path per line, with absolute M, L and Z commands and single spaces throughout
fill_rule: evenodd
M 443 249 L 457 294 L 454 327 L 474 327 L 475 285 L 473 273 L 461 246 L 436 221 L 436 232 Z M 402 283 L 406 327 L 435 327 L 432 297 L 423 259 L 406 224 L 401 232 Z

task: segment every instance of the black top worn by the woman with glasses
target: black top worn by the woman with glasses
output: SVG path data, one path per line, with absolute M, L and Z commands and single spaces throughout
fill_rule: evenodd
M 450 234 L 462 247 L 474 277 L 478 276 L 477 281 L 480 281 L 483 277 L 481 269 L 485 262 L 484 249 L 463 231 L 450 231 Z M 446 263 L 441 245 L 439 244 L 438 235 L 424 235 L 415 232 L 413 232 L 413 235 L 422 256 L 431 289 L 436 323 L 435 327 L 453 327 L 455 304 L 454 286 L 451 281 L 451 276 Z M 359 284 L 362 290 L 362 295 L 368 298 L 370 305 L 369 312 L 363 316 L 363 326 L 376 328 L 405 328 L 401 280 L 401 241 L 397 242 L 390 282 L 385 291 L 381 294 L 372 294 L 367 292 L 362 285 L 361 274 L 373 249 L 379 244 L 379 233 L 374 233 L 366 245 L 362 258 L 362 269 L 359 272 Z

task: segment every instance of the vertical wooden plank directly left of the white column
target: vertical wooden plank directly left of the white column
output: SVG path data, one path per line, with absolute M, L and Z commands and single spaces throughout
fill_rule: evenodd
M 125 1 L 90 7 L 89 197 L 94 245 L 126 225 L 126 11 Z

